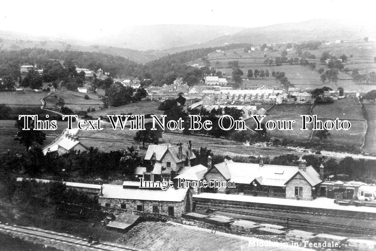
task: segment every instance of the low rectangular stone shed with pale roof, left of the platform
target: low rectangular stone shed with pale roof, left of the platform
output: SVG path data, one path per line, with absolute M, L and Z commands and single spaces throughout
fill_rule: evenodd
M 139 182 L 137 182 L 139 184 Z M 101 206 L 179 216 L 192 211 L 192 193 L 188 188 L 140 189 L 103 184 L 98 197 Z

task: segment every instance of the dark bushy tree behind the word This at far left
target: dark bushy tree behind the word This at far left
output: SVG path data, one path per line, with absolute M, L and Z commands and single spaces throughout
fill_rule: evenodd
M 20 144 L 24 144 L 26 150 L 30 150 L 31 146 L 34 142 L 38 143 L 39 145 L 43 145 L 46 135 L 42 131 L 34 130 L 34 121 L 29 119 L 29 128 L 30 130 L 22 130 L 24 128 L 24 120 L 17 120 L 15 127 L 17 127 L 17 138 L 15 141 L 18 141 Z

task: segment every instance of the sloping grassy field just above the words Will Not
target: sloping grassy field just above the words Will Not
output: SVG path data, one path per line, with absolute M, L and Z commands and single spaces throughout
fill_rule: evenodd
M 162 115 L 163 111 L 158 110 L 158 106 L 161 104 L 158 101 L 141 101 L 132 104 L 126 104 L 124 106 L 111 107 L 108 109 L 97 110 L 95 112 L 90 112 L 88 115 L 95 117 L 106 116 L 111 114 L 121 114 L 121 113 L 132 113 L 132 114 L 155 114 Z

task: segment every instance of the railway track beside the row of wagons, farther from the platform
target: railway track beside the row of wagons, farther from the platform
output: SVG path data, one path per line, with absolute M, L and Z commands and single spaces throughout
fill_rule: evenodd
M 201 208 L 201 209 L 207 208 L 204 206 L 196 206 L 196 207 Z M 244 211 L 231 210 L 231 209 L 222 209 L 222 208 L 216 208 L 216 207 L 210 207 L 210 209 L 214 209 L 214 210 L 221 211 L 221 212 L 239 214 L 239 215 L 249 215 L 249 216 L 255 216 L 255 217 L 260 217 L 260 218 L 268 218 L 268 219 L 274 219 L 278 221 L 284 221 L 284 222 L 287 222 L 288 227 L 315 228 L 315 229 L 323 229 L 323 230 L 340 230 L 346 233 L 357 233 L 357 234 L 360 233 L 360 234 L 376 235 L 376 229 L 373 229 L 373 228 L 355 227 L 355 226 L 348 226 L 348 225 L 337 224 L 337 223 L 311 221 L 311 220 L 296 219 L 296 218 L 276 216 L 276 215 L 265 215 L 261 213 L 251 213 L 251 212 L 244 212 Z M 296 222 L 299 224 L 296 224 L 296 223 L 294 224 L 292 222 Z M 270 223 L 276 223 L 276 222 L 270 221 Z M 280 224 L 280 222 L 278 223 Z

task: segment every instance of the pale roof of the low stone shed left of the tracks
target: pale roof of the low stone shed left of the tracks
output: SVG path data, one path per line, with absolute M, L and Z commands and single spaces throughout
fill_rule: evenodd
M 103 184 L 99 198 L 150 201 L 183 201 L 188 188 L 168 188 L 167 190 L 123 188 L 122 185 Z

